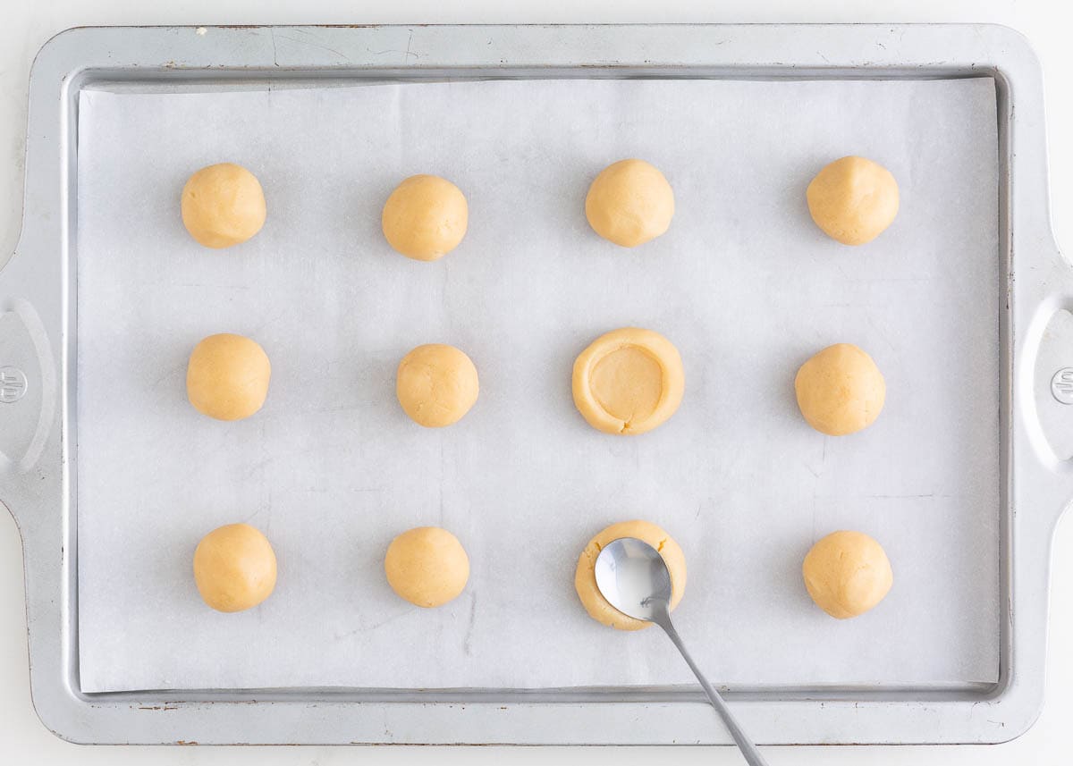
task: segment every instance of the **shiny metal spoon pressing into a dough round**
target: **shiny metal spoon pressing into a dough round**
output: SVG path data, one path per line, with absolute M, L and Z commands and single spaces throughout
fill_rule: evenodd
M 671 637 L 678 651 L 686 659 L 696 680 L 701 682 L 712 707 L 719 711 L 737 742 L 741 754 L 751 766 L 767 766 L 756 746 L 749 740 L 731 715 L 726 703 L 693 662 L 686 651 L 678 631 L 671 624 L 671 572 L 659 551 L 648 543 L 635 537 L 620 537 L 604 546 L 597 557 L 597 587 L 612 606 L 638 620 L 655 622 Z

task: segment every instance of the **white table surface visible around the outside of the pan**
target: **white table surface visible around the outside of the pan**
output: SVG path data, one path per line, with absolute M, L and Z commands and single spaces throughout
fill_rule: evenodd
M 853 9 L 856 4 L 857 8 Z M 0 24 L 0 262 L 18 237 L 27 83 L 41 45 L 68 27 L 171 24 L 421 24 L 597 21 L 991 21 L 1020 30 L 1043 61 L 1050 136 L 1055 230 L 1073 203 L 1073 46 L 1061 0 L 8 0 Z M 1068 229 L 1068 227 L 1067 227 Z M 1067 252 L 1069 240 L 1064 239 Z M 1055 539 L 1047 701 L 1020 738 L 984 747 L 767 748 L 771 766 L 874 764 L 988 766 L 1070 763 L 1073 717 L 1073 531 Z M 729 748 L 91 748 L 61 741 L 30 703 L 23 556 L 18 532 L 0 513 L 0 763 L 55 764 L 739 764 Z M 668 650 L 671 648 L 668 647 Z M 718 725 L 715 717 L 712 725 Z

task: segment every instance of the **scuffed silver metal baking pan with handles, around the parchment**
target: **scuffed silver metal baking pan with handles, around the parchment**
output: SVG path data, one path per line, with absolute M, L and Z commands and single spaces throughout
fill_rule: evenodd
M 298 46 L 278 46 L 294 38 Z M 397 51 L 385 63 L 384 51 Z M 416 51 L 421 55 L 416 56 Z M 77 29 L 34 63 L 23 235 L 0 272 L 0 475 L 23 535 L 34 705 L 85 742 L 729 743 L 684 688 L 85 692 L 76 530 L 79 93 L 251 83 L 530 77 L 892 79 L 989 76 L 998 94 L 1001 619 L 994 683 L 731 689 L 762 743 L 995 742 L 1043 693 L 1052 531 L 1073 497 L 1073 279 L 1048 221 L 1042 89 L 991 26 Z M 973 370 L 956 370 L 972 396 Z M 995 381 L 988 381 L 994 386 Z M 638 725 L 637 721 L 644 721 Z

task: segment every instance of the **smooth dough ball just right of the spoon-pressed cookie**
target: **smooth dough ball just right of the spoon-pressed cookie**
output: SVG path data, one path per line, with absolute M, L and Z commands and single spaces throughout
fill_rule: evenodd
M 863 532 L 832 532 L 808 551 L 802 573 L 815 605 L 840 620 L 874 607 L 894 583 L 883 547 Z

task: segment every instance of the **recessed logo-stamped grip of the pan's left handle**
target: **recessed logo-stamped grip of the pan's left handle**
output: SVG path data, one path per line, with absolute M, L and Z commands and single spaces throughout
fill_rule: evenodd
M 21 289 L 18 255 L 0 271 L 0 486 L 18 495 L 39 468 L 56 418 L 58 379 L 39 311 Z M 12 512 L 17 497 L 0 498 Z

